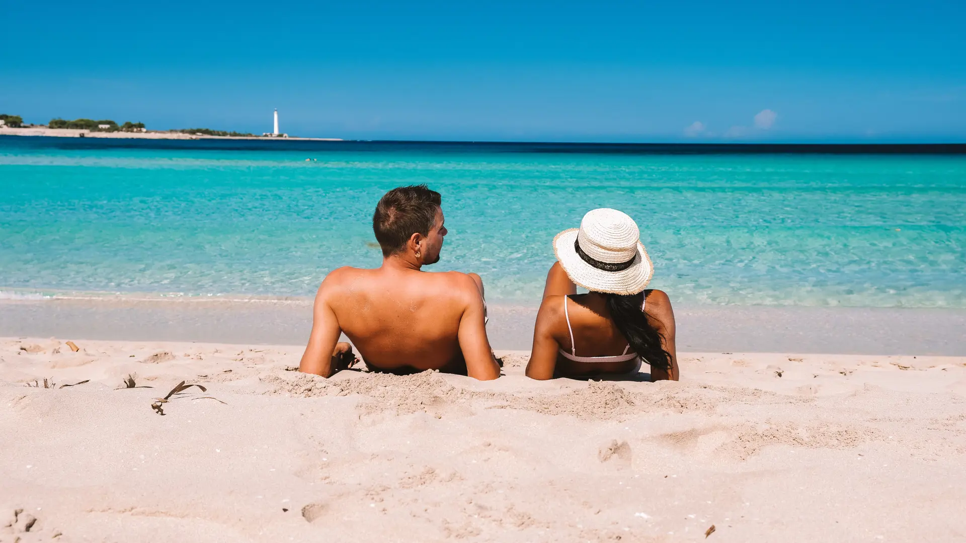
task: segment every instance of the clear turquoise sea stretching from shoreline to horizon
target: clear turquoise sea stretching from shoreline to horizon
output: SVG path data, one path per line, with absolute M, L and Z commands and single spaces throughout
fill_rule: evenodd
M 308 297 L 378 266 L 376 202 L 426 183 L 428 270 L 501 303 L 538 304 L 554 234 L 611 207 L 678 302 L 966 308 L 964 155 L 127 142 L 0 136 L 0 296 Z

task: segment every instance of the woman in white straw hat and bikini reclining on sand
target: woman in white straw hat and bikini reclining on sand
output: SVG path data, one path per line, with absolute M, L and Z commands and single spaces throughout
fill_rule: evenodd
M 634 220 L 611 209 L 556 235 L 528 377 L 633 379 L 643 360 L 652 381 L 677 381 L 674 313 L 667 294 L 644 290 L 654 270 L 639 238 Z M 575 284 L 590 292 L 576 294 Z

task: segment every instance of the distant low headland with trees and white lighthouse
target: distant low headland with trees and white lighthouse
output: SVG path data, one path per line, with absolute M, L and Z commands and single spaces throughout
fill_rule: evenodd
M 54 137 L 102 137 L 102 138 L 136 138 L 136 139 L 270 139 L 285 138 L 294 140 L 314 141 L 342 141 L 341 138 L 331 137 L 295 137 L 278 131 L 278 111 L 274 112 L 274 131 L 257 135 L 248 132 L 236 132 L 215 129 L 147 129 L 144 123 L 124 124 L 104 119 L 51 119 L 46 125 L 24 124 L 19 115 L 0 114 L 0 135 L 22 136 L 54 136 Z

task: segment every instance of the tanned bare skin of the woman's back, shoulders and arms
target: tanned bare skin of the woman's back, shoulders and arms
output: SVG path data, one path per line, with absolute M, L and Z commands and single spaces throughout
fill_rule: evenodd
M 590 377 L 602 374 L 620 374 L 631 371 L 637 362 L 575 362 L 559 356 L 558 351 L 570 351 L 570 332 L 563 312 L 564 297 L 577 293 L 567 272 L 559 263 L 547 274 L 544 298 L 537 313 L 533 330 L 533 350 L 526 364 L 526 376 L 532 379 L 557 377 Z M 651 381 L 678 379 L 677 353 L 674 346 L 674 312 L 668 295 L 659 290 L 645 291 L 647 302 L 644 313 L 663 336 L 662 346 L 671 356 L 670 371 L 651 368 Z M 581 357 L 608 357 L 620 355 L 627 339 L 614 326 L 607 310 L 606 300 L 597 293 L 576 296 L 567 301 L 570 324 L 574 329 L 577 353 Z M 646 361 L 646 360 L 645 360 Z

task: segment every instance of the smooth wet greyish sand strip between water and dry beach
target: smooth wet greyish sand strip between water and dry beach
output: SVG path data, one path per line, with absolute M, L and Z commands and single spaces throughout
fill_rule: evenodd
M 312 301 L 157 297 L 0 300 L 0 335 L 298 345 Z M 529 349 L 536 308 L 491 301 L 495 349 Z M 678 349 L 966 356 L 966 310 L 715 305 L 674 308 Z

